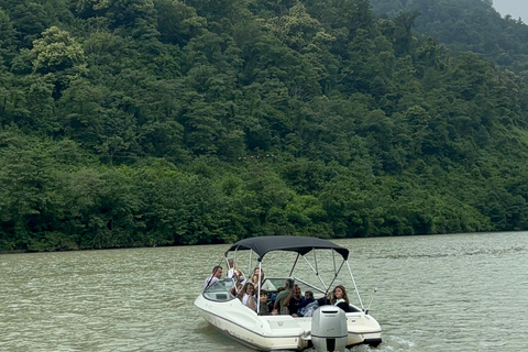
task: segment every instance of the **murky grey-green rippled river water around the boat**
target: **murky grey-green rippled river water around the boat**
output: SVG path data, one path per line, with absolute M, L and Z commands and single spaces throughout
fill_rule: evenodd
M 377 349 L 352 351 L 528 346 L 527 232 L 334 242 L 384 330 Z M 226 249 L 0 255 L 0 351 L 251 351 L 193 306 Z

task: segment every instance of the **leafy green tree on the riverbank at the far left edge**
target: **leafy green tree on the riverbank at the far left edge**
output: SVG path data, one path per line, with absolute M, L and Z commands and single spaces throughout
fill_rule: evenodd
M 46 143 L 16 129 L 1 129 L 0 145 L 0 248 L 28 250 L 51 229 L 46 216 L 61 204 L 57 165 Z

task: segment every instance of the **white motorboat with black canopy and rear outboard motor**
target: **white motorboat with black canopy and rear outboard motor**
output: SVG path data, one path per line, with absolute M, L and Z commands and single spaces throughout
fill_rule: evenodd
M 315 348 L 316 351 L 344 351 L 344 348 L 358 344 L 377 346 L 382 342 L 382 328 L 369 314 L 370 307 L 365 308 L 360 297 L 349 264 L 348 249 L 318 238 L 258 237 L 232 244 L 224 252 L 224 260 L 226 264 L 229 258 L 234 258 L 234 262 L 239 263 L 238 257 L 243 256 L 249 262 L 249 271 L 253 268 L 253 261 L 256 260 L 255 267 L 258 267 L 258 275 L 261 275 L 262 270 L 267 271 L 266 264 L 276 266 L 276 261 L 266 263 L 264 258 L 273 257 L 272 252 L 280 251 L 286 257 L 292 257 L 293 264 L 283 275 L 264 278 L 263 286 L 267 284 L 270 300 L 277 292 L 274 288 L 284 286 L 286 278 L 293 278 L 302 293 L 310 290 L 318 300 L 324 299 L 331 292 L 331 287 L 341 283 L 341 277 L 344 275 L 352 285 L 349 286 L 349 297 L 353 295 L 350 293 L 353 287 L 358 304 L 350 304 L 350 312 L 327 304 L 317 308 L 311 317 L 264 316 L 261 315 L 260 306 L 254 311 L 233 295 L 232 287 L 235 285 L 233 278 L 220 278 L 200 293 L 195 300 L 195 306 L 204 319 L 226 336 L 260 351 L 300 351 L 308 348 Z M 324 266 L 321 256 L 330 264 Z M 300 272 L 299 267 L 301 267 Z M 324 277 L 323 272 L 328 273 Z M 307 279 L 307 274 L 310 274 L 314 279 Z M 261 282 L 261 277 L 258 279 Z M 258 302 L 260 290 L 256 296 Z M 332 336 L 337 331 L 343 332 Z M 334 345 L 340 344 L 339 339 L 342 348 L 338 349 Z

